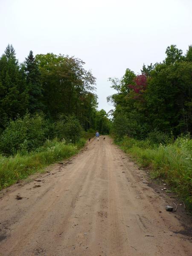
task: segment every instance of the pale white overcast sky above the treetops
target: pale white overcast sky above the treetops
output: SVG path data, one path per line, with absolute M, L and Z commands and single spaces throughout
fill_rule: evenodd
M 7 44 L 20 62 L 30 50 L 81 58 L 97 79 L 99 109 L 109 111 L 109 77 L 192 44 L 192 0 L 0 0 L 0 55 Z

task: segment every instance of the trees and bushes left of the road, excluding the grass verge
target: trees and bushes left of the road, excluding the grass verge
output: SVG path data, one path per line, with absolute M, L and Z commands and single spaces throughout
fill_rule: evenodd
M 97 110 L 95 85 L 79 58 L 30 51 L 19 63 L 8 45 L 0 57 L 0 151 L 32 150 L 54 137 L 74 143 L 90 129 L 108 133 L 110 122 Z

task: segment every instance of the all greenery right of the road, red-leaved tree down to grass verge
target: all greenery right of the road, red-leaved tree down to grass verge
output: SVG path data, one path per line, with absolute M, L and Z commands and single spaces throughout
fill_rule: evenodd
M 163 178 L 192 209 L 192 46 L 171 45 L 162 63 L 110 78 L 111 134 L 151 178 Z

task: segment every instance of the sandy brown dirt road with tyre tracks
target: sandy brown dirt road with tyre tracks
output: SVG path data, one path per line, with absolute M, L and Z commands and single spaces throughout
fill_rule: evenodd
M 0 255 L 192 255 L 146 176 L 109 137 L 92 140 L 69 163 L 0 194 Z

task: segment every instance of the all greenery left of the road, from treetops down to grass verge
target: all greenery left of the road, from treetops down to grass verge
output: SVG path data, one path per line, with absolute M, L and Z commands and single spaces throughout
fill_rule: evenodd
M 111 122 L 97 110 L 96 79 L 79 58 L 53 53 L 0 57 L 0 189 L 76 154 Z

